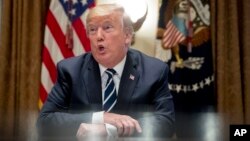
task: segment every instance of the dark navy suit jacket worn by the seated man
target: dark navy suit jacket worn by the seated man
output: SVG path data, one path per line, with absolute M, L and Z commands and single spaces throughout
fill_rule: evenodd
M 91 123 L 102 111 L 101 76 L 91 53 L 65 59 L 57 65 L 57 82 L 45 102 L 38 128 L 76 135 L 80 123 Z M 129 49 L 113 113 L 137 119 L 143 136 L 171 136 L 174 106 L 168 89 L 167 64 Z M 134 78 L 133 78 L 134 77 Z M 44 132 L 41 132 L 44 133 Z

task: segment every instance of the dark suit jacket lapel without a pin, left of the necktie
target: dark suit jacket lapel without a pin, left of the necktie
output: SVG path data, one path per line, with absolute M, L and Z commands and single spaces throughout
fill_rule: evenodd
M 102 105 L 101 76 L 98 63 L 91 56 L 87 69 L 83 72 L 83 81 L 86 85 L 88 101 L 92 104 Z M 102 108 L 102 107 L 99 107 Z

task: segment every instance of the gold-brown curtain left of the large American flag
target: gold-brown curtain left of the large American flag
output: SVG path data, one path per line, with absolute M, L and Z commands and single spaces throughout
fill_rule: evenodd
M 48 3 L 49 0 L 2 0 L 1 139 L 33 140 L 36 136 L 41 49 Z

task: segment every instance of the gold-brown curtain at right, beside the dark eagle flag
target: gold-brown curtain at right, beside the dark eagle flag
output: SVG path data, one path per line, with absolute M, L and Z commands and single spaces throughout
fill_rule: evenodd
M 211 10 L 218 112 L 228 134 L 229 124 L 250 124 L 250 3 L 211 0 Z

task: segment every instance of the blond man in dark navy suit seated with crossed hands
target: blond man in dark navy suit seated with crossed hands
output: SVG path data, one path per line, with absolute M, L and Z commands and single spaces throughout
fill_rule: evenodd
M 57 82 L 37 121 L 39 133 L 78 139 L 172 136 L 168 66 L 129 49 L 133 27 L 122 7 L 98 5 L 86 22 L 91 53 L 58 63 Z

